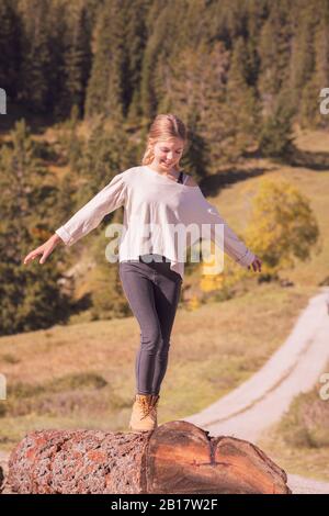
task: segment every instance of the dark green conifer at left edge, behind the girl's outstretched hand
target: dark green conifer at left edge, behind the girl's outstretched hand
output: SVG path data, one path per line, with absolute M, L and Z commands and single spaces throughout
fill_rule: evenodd
M 68 300 L 60 294 L 54 258 L 43 266 L 23 265 L 24 256 L 52 234 L 46 225 L 56 192 L 44 183 L 46 170 L 35 158 L 24 120 L 15 124 L 11 138 L 12 147 L 3 147 L 0 154 L 2 335 L 45 328 L 68 316 Z

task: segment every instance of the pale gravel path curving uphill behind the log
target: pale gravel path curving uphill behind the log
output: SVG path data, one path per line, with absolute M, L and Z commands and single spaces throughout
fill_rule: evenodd
M 328 293 L 329 289 L 324 288 L 310 299 L 286 341 L 250 380 L 184 420 L 213 436 L 230 435 L 257 444 L 293 399 L 309 391 L 325 372 L 329 360 Z M 329 493 L 328 483 L 298 475 L 290 475 L 290 485 L 296 493 Z

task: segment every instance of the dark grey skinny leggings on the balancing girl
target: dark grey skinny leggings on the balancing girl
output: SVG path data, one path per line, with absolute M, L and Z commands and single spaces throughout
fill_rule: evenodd
M 150 257 L 162 261 L 146 262 Z M 121 261 L 118 273 L 140 328 L 135 366 L 137 393 L 159 394 L 182 278 L 170 269 L 168 258 L 155 254 L 139 256 L 139 260 Z

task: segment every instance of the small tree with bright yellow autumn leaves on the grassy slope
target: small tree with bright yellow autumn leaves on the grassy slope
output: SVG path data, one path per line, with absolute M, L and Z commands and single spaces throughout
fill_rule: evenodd
M 262 260 L 262 276 L 306 261 L 318 243 L 319 227 L 309 200 L 283 179 L 263 178 L 252 200 L 246 244 Z

